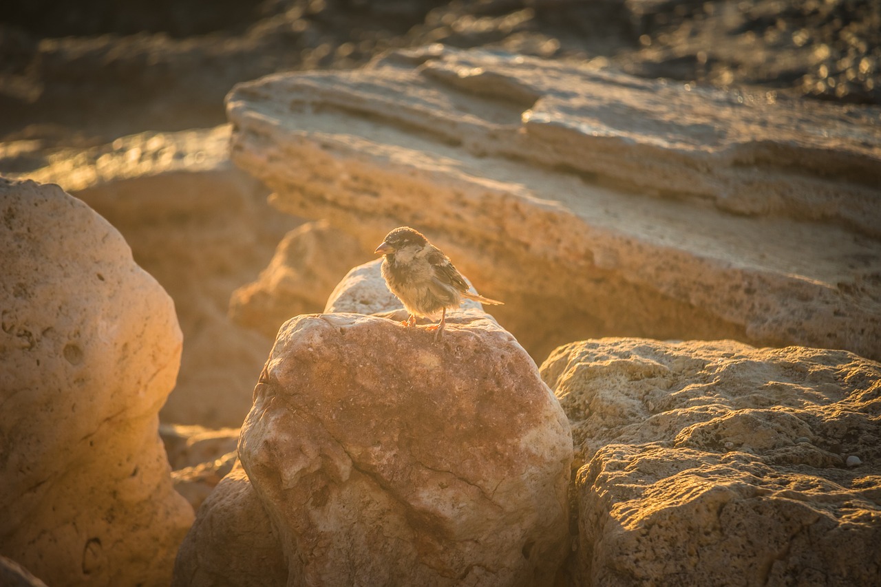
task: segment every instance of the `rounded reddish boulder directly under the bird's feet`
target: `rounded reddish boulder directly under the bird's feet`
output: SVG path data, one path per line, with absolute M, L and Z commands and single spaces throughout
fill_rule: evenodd
M 279 582 L 545 584 L 568 552 L 568 423 L 522 347 L 477 309 L 449 316 L 440 343 L 374 316 L 285 323 L 239 452 L 253 489 L 237 470 L 218 485 L 175 584 L 250 581 L 259 567 L 240 531 L 224 523 L 218 539 L 211 520 L 259 509 L 287 561 Z

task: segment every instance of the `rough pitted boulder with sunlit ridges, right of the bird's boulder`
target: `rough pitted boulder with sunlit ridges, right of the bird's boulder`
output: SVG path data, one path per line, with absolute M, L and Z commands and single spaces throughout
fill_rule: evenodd
M 881 469 L 838 454 L 881 456 L 877 362 L 605 338 L 541 371 L 581 467 L 580 584 L 881 581 Z

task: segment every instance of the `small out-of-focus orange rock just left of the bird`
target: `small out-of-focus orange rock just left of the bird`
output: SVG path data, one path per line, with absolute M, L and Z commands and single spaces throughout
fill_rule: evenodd
M 328 295 L 353 265 L 368 258 L 358 241 L 329 227 L 309 222 L 278 243 L 275 256 L 260 277 L 233 292 L 233 322 L 275 338 L 293 316 L 321 312 Z

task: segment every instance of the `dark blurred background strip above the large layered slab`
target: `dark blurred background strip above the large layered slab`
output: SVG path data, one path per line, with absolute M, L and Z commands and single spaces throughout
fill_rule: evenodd
M 879 0 L 10 0 L 0 141 L 209 127 L 236 82 L 432 42 L 877 105 L 879 41 Z

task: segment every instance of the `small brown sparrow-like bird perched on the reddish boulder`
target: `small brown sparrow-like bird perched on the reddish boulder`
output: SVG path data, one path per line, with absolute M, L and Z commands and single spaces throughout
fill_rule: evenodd
M 415 326 L 416 316 L 432 320 L 441 316 L 440 323 L 429 327 L 435 331 L 435 340 L 443 336 L 447 308 L 458 308 L 463 298 L 491 305 L 504 303 L 468 291 L 462 273 L 450 263 L 449 257 L 411 227 L 398 227 L 386 234 L 374 253 L 385 256 L 382 277 L 391 293 L 410 312 L 403 324 Z

